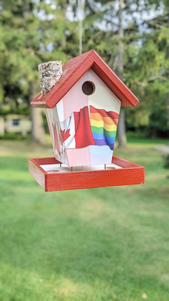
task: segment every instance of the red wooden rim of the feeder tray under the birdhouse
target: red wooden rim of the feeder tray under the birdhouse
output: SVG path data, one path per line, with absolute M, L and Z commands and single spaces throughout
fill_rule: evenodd
M 134 185 L 145 182 L 145 170 L 143 166 L 118 157 L 113 157 L 112 163 L 118 164 L 123 167 L 122 169 L 49 174 L 39 166 L 54 163 L 59 163 L 59 161 L 55 158 L 29 160 L 29 172 L 45 191 Z M 44 177 L 42 177 L 42 173 Z

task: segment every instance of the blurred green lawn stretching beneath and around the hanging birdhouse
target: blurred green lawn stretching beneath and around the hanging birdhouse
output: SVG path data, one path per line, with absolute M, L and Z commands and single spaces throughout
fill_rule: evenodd
M 155 143 L 114 152 L 145 166 L 145 185 L 44 193 L 28 158 L 52 151 L 1 140 L 1 301 L 169 300 L 169 170 Z

